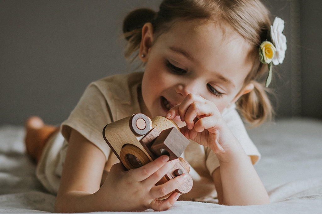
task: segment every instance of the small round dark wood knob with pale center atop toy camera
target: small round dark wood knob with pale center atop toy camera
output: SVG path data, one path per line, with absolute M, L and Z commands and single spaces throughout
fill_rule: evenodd
M 129 126 L 135 135 L 145 135 L 150 131 L 150 120 L 142 113 L 135 114 L 131 116 Z

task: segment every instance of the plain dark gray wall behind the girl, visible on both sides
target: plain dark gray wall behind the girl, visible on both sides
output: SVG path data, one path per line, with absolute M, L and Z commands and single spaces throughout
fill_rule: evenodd
M 59 124 L 91 81 L 130 72 L 119 38 L 123 18 L 137 7 L 157 9 L 160 2 L 0 0 L 0 125 L 23 124 L 31 115 Z M 277 116 L 322 119 L 322 3 L 265 3 L 286 21 L 288 38 L 273 85 Z

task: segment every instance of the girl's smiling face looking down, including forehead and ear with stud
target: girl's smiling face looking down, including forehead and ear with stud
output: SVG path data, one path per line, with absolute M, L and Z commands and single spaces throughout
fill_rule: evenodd
M 142 32 L 143 113 L 147 116 L 166 116 L 189 93 L 212 101 L 222 112 L 246 93 L 242 86 L 253 66 L 251 46 L 228 24 L 179 21 L 155 40 L 151 24 Z M 180 117 L 174 121 L 185 125 Z

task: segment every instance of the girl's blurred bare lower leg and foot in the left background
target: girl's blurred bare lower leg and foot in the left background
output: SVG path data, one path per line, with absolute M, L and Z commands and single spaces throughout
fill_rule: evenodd
M 27 154 L 38 163 L 48 139 L 59 131 L 59 127 L 45 125 L 40 117 L 30 117 L 25 124 Z

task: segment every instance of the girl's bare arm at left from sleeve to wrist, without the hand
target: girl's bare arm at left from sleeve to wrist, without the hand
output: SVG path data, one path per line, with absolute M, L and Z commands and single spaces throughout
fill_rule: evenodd
M 75 130 L 71 131 L 57 193 L 56 212 L 86 212 L 98 208 L 99 190 L 106 158 L 101 150 Z

